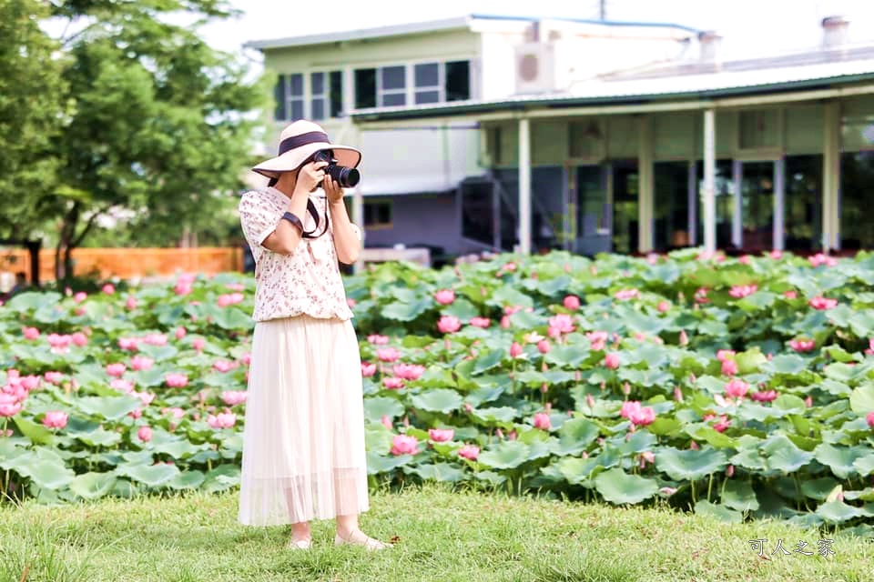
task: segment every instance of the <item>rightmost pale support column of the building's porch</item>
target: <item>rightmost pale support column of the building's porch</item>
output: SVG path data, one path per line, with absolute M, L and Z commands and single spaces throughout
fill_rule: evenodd
M 822 128 L 822 249 L 840 248 L 840 104 L 829 101 L 823 111 Z

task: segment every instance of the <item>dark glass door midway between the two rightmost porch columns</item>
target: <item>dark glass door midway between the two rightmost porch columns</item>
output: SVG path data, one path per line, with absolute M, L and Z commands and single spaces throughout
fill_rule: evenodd
M 776 248 L 774 245 L 776 182 L 777 162 L 741 163 L 739 246 L 747 252 L 769 251 Z

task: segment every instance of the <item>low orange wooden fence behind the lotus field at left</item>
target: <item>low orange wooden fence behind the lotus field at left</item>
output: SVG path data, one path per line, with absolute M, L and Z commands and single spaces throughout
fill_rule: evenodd
M 224 246 L 197 248 L 76 248 L 76 276 L 122 279 L 172 276 L 178 271 L 211 275 L 243 270 L 243 249 Z M 23 271 L 31 279 L 30 257 L 24 249 L 0 248 L 0 272 Z M 55 249 L 39 252 L 39 279 L 55 279 Z

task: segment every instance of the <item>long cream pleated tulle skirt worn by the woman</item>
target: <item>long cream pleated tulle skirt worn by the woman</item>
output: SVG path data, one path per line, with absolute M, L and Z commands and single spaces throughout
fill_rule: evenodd
M 239 522 L 274 526 L 368 508 L 361 354 L 351 321 L 258 322 Z

